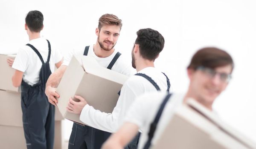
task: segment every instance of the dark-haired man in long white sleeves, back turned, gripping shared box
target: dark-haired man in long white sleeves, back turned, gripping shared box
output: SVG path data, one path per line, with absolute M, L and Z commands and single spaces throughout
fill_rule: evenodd
M 89 126 L 108 132 L 116 132 L 131 103 L 139 95 L 159 90 L 168 91 L 168 77 L 154 67 L 154 60 L 163 50 L 164 38 L 153 29 L 140 29 L 132 50 L 132 66 L 137 74 L 131 76 L 120 91 L 119 99 L 112 113 L 100 112 L 89 106 L 81 96 L 75 96 L 79 102 L 70 99 L 68 111 L 81 114 L 80 120 Z M 137 148 L 139 134 L 128 148 Z

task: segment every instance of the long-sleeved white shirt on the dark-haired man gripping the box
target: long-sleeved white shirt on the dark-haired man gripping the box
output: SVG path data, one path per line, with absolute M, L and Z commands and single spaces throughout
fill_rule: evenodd
M 167 90 L 166 76 L 156 68 L 147 67 L 138 73 L 148 75 L 157 83 L 161 90 Z M 87 104 L 81 111 L 80 120 L 96 129 L 116 132 L 135 98 L 146 92 L 156 91 L 157 89 L 147 79 L 133 75 L 122 86 L 120 96 L 112 113 L 100 112 Z

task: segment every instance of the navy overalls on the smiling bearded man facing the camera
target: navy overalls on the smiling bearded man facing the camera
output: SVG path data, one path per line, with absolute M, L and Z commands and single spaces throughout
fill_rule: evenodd
M 88 54 L 88 50 L 89 46 L 86 46 L 84 49 L 84 55 Z M 112 66 L 120 55 L 121 53 L 116 53 L 113 60 L 108 65 L 108 69 L 112 69 Z M 110 135 L 111 133 L 109 132 L 105 132 L 90 126 L 82 126 L 78 123 L 73 123 L 68 149 L 100 149 L 102 144 Z

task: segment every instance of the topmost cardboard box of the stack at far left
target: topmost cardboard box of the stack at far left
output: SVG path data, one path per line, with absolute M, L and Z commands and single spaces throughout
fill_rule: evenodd
M 12 76 L 15 72 L 15 69 L 8 65 L 7 59 L 9 57 L 15 58 L 15 55 L 0 54 L 0 89 L 12 92 L 20 92 L 20 87 L 12 86 Z

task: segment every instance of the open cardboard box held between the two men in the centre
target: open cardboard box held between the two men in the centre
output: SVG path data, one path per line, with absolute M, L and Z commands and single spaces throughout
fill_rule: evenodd
M 60 95 L 58 109 L 64 118 L 84 124 L 79 115 L 66 110 L 69 98 L 80 95 L 90 106 L 110 113 L 116 106 L 118 92 L 127 79 L 123 74 L 100 66 L 94 57 L 73 56 L 57 89 Z

